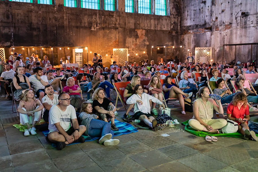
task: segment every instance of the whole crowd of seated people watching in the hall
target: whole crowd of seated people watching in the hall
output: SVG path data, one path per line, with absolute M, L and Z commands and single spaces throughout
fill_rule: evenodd
M 113 139 L 113 130 L 118 130 L 115 125 L 117 108 L 113 104 L 110 91 L 115 91 L 113 84 L 129 81 L 123 94 L 128 105 L 123 115 L 124 119 L 134 107 L 134 118 L 157 131 L 157 121 L 154 117 L 158 115 L 156 104 L 158 108 L 165 108 L 165 100 L 178 99 L 181 114 L 186 114 L 184 98 L 193 101 L 195 97 L 193 119 L 189 120 L 189 125 L 193 129 L 218 133 L 227 122 L 225 119 L 212 119 L 213 109 L 223 114 L 222 104 L 230 103 L 227 110 L 228 119 L 239 123 L 239 132 L 245 135 L 245 138 L 257 141 L 245 123 L 249 120 L 249 112 L 258 111 L 248 103 L 258 103 L 255 90 L 244 85 L 244 74 L 256 73 L 251 64 L 247 71 L 243 70 L 241 64 L 231 64 L 235 73 L 230 75 L 228 66 L 221 67 L 216 63 L 197 63 L 194 66 L 194 59 L 190 53 L 187 61 L 179 65 L 173 62 L 167 65 L 163 59 L 158 64 L 153 60 L 149 64 L 146 60 L 142 66 L 136 62 L 125 62 L 122 66 L 113 61 L 109 69 L 103 67 L 102 57 L 98 57 L 97 54 L 94 54 L 92 62 L 93 66 L 84 64 L 81 69 L 83 73 L 78 74 L 72 66 L 63 65 L 63 69 L 53 69 L 47 56 L 44 56 L 42 62 L 38 57 L 35 58 L 35 55 L 26 58 L 24 62 L 21 56 L 16 55 L 15 60 L 14 56 L 10 56 L 0 81 L 4 82 L 7 98 L 10 98 L 8 86 L 13 82 L 16 89 L 15 97 L 22 99 L 18 112 L 21 114 L 21 124 L 28 127 L 24 136 L 36 134 L 35 125 L 40 121 L 39 114 L 43 111 L 43 119 L 49 122 L 50 130 L 46 140 L 57 143 L 58 150 L 72 142 L 84 142 L 82 135 L 101 137 L 99 143 L 104 145 L 119 144 L 118 139 Z M 213 76 L 209 78 L 208 74 Z M 218 77 L 219 75 L 222 78 Z M 141 81 L 148 81 L 148 90 L 141 85 Z M 210 90 L 207 87 L 208 81 L 214 81 L 216 88 Z M 232 88 L 230 90 L 227 87 L 232 81 L 235 81 L 232 86 L 236 89 L 235 93 Z M 221 100 L 210 99 L 212 91 L 220 95 Z M 87 99 L 82 98 L 82 92 L 87 94 Z M 240 99 L 243 103 L 239 103 Z M 242 108 L 243 112 L 241 111 L 240 115 L 236 114 L 232 110 L 233 106 Z M 78 117 L 82 125 L 79 125 Z

